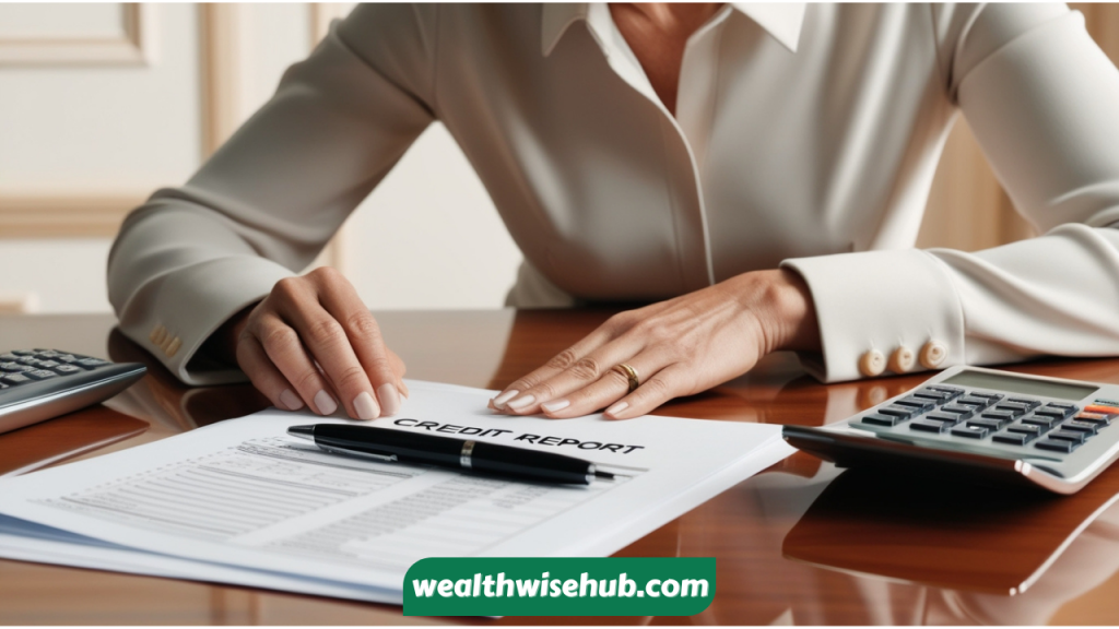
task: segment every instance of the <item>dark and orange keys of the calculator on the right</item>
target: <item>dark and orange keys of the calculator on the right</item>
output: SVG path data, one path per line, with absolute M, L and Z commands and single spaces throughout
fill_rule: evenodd
M 1080 409 L 1063 402 L 927 385 L 854 423 L 1068 453 L 1117 416 L 1119 406 L 1090 404 Z

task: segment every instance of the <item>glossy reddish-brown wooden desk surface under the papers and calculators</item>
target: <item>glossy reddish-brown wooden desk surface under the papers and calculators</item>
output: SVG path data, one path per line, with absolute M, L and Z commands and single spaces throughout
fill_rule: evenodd
M 408 377 L 500 388 L 605 319 L 600 311 L 378 314 Z M 0 475 L 97 457 L 263 409 L 243 385 L 187 388 L 107 316 L 0 317 L 0 348 L 56 347 L 142 360 L 128 392 L 0 435 Z M 1119 360 L 1007 367 L 1119 383 Z M 821 425 L 896 395 L 920 375 L 822 386 L 788 355 L 658 413 Z M 801 453 L 739 484 L 618 553 L 715 556 L 713 604 L 641 625 L 1119 623 L 1119 467 L 1057 498 L 846 471 Z M 399 608 L 209 583 L 0 561 L 6 625 L 477 625 L 587 619 L 404 618 Z

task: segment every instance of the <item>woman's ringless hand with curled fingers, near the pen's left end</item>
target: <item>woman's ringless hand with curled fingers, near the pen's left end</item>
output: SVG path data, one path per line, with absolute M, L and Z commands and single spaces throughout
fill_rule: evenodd
M 279 409 L 307 404 L 320 415 L 338 410 L 356 420 L 392 415 L 407 396 L 404 362 L 357 291 L 323 266 L 276 282 L 251 310 L 219 334 L 223 345 L 261 393 Z

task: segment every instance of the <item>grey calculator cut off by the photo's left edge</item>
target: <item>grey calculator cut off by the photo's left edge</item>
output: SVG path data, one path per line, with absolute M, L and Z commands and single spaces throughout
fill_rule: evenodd
M 140 363 L 111 363 L 57 349 L 0 354 L 0 432 L 109 400 L 147 370 Z

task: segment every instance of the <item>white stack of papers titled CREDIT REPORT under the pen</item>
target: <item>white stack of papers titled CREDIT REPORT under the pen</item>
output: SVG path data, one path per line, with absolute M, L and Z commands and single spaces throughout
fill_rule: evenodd
M 793 450 L 772 424 L 498 415 L 495 392 L 410 381 L 373 422 L 267 410 L 0 480 L 0 556 L 399 603 L 430 556 L 605 556 Z M 331 454 L 355 423 L 579 457 L 589 486 Z

